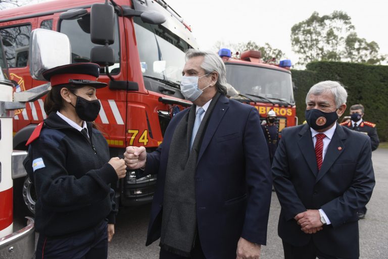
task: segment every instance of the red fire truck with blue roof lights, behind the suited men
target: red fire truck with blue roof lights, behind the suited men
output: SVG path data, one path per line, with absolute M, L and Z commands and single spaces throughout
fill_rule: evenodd
M 225 63 L 227 82 L 236 90 L 231 98 L 255 106 L 261 120 L 272 109 L 279 132 L 298 124 L 290 60 L 282 60 L 278 65 L 266 64 L 259 50 L 244 51 L 238 59 L 231 58 L 227 48 L 220 49 L 218 54 Z

